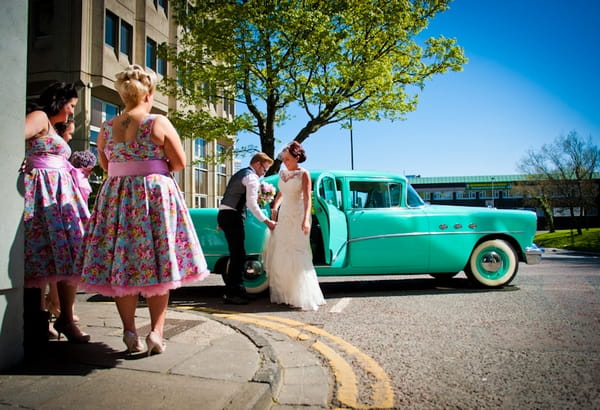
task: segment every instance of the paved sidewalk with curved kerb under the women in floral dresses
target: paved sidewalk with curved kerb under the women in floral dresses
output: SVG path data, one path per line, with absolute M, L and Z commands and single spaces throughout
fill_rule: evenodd
M 51 341 L 0 375 L 0 409 L 322 409 L 327 367 L 301 342 L 206 313 L 169 309 L 167 349 L 127 355 L 113 303 L 78 296 L 89 344 Z M 224 306 L 225 308 L 225 306 Z M 139 334 L 149 331 L 138 308 Z

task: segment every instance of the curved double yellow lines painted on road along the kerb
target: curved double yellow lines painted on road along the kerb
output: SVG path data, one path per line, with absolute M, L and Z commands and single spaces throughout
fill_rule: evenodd
M 215 316 L 249 323 L 283 333 L 291 339 L 310 340 L 312 334 L 317 336 L 311 348 L 327 359 L 333 370 L 338 388 L 336 392 L 340 403 L 351 408 L 391 408 L 394 405 L 394 391 L 391 381 L 385 371 L 371 357 L 346 342 L 344 339 L 327 333 L 321 328 L 286 319 L 278 316 L 257 315 L 253 313 L 228 312 L 217 309 L 178 306 L 178 308 L 200 310 Z M 371 374 L 370 384 L 371 403 L 358 403 L 358 381 L 352 366 L 327 343 L 333 344 L 338 349 L 352 356 L 365 371 Z

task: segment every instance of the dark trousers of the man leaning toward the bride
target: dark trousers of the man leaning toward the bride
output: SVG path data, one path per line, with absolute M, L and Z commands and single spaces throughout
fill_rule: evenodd
M 238 211 L 222 209 L 217 215 L 217 222 L 223 229 L 229 246 L 229 267 L 227 268 L 227 280 L 225 281 L 225 295 L 229 297 L 244 296 L 246 293 L 242 280 L 242 271 L 246 261 L 244 216 Z

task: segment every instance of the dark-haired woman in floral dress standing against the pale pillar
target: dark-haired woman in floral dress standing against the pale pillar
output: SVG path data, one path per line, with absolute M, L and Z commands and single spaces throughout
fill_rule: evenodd
M 68 161 L 71 149 L 54 128 L 73 115 L 77 100 L 73 84 L 55 83 L 30 107 L 25 120 L 25 287 L 45 289 L 56 283 L 60 314 L 54 329 L 70 342 L 85 343 L 89 335 L 73 320 L 81 280 L 74 261 L 89 211 Z

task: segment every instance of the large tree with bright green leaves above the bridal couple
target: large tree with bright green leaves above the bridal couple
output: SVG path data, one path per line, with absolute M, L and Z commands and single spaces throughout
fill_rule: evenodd
M 350 119 L 404 119 L 427 80 L 467 61 L 455 39 L 416 40 L 450 1 L 174 0 L 178 45 L 161 52 L 177 78 L 163 91 L 182 106 L 235 101 L 245 109 L 234 119 L 181 109 L 173 121 L 191 138 L 254 133 L 274 156 L 291 107 L 307 118 L 298 142 Z

